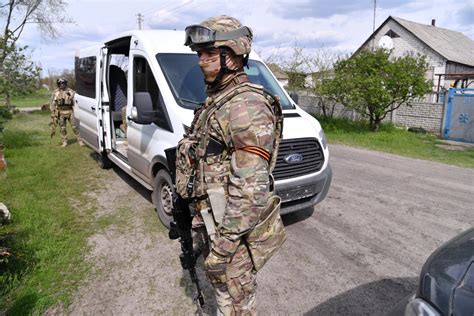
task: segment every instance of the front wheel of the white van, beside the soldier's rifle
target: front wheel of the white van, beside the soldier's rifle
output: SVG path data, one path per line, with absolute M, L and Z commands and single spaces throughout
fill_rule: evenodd
M 160 221 L 169 229 L 170 222 L 173 220 L 173 214 L 171 213 L 173 206 L 173 183 L 171 182 L 171 176 L 165 169 L 158 171 L 155 176 L 151 198 Z

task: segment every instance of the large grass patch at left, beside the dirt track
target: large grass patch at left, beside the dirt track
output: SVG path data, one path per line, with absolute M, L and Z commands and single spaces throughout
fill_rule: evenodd
M 12 213 L 11 224 L 0 226 L 0 246 L 11 253 L 0 263 L 0 314 L 67 305 L 88 271 L 83 255 L 97 223 L 86 193 L 98 189 L 98 166 L 85 147 L 60 148 L 59 136 L 50 140 L 48 122 L 49 113 L 18 114 L 0 139 L 8 162 L 0 172 L 0 201 Z

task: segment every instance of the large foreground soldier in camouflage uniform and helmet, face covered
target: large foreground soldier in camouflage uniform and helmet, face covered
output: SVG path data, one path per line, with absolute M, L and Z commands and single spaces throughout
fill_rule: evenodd
M 208 98 L 178 145 L 178 157 L 188 154 L 196 166 L 194 192 L 188 196 L 197 201 L 193 227 L 202 231 L 204 215 L 213 214 L 213 223 L 205 226 L 211 239 L 205 269 L 216 291 L 218 313 L 224 315 L 256 313 L 257 272 L 244 236 L 273 194 L 270 161 L 282 127 L 279 103 L 251 84 L 244 72 L 251 41 L 250 28 L 229 16 L 186 28 L 185 45 L 199 56 Z M 186 195 L 185 187 L 177 178 L 178 193 L 182 188 L 180 194 Z

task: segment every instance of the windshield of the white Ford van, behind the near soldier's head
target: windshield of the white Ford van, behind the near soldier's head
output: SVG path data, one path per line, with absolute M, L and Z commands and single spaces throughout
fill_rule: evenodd
M 156 58 L 179 105 L 194 109 L 206 100 L 204 76 L 198 65 L 197 54 L 157 54 Z M 262 85 L 280 97 L 284 110 L 293 109 L 280 85 L 261 62 L 251 59 L 244 69 L 252 83 Z

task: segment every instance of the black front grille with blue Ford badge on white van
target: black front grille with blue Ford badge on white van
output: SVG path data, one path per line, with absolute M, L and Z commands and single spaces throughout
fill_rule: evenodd
M 294 161 L 288 163 L 285 158 L 294 158 Z M 323 164 L 323 150 L 316 138 L 285 139 L 278 149 L 273 177 L 275 180 L 283 180 L 318 172 Z

